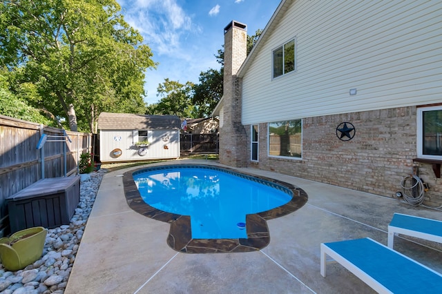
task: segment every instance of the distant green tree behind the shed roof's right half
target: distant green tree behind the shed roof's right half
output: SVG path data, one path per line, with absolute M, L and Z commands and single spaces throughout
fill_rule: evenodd
M 177 115 L 178 117 L 192 117 L 191 103 L 193 83 L 180 84 L 178 81 L 164 79 L 157 88 L 157 96 L 162 97 L 157 104 L 148 106 L 146 114 L 150 115 Z

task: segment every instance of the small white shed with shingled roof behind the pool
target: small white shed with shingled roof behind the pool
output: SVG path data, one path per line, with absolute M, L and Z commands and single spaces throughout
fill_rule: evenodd
M 102 112 L 98 117 L 102 162 L 180 157 L 180 118 Z

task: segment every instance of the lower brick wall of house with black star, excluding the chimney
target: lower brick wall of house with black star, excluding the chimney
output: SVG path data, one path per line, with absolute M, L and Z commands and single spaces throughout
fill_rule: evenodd
M 352 140 L 336 137 L 336 127 L 344 121 L 356 128 Z M 244 128 L 244 156 L 249 160 L 250 126 Z M 430 185 L 423 204 L 442 204 L 441 179 L 430 164 L 412 160 L 416 158 L 416 107 L 302 119 L 302 159 L 268 157 L 267 146 L 267 124 L 260 124 L 259 162 L 249 161 L 249 166 L 387 197 L 401 190 L 403 177 L 417 166 L 419 177 Z

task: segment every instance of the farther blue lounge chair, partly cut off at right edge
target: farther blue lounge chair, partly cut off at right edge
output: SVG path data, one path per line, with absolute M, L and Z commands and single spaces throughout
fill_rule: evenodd
M 387 245 L 393 248 L 394 235 L 403 234 L 442 243 L 442 222 L 424 217 L 394 213 L 388 226 Z

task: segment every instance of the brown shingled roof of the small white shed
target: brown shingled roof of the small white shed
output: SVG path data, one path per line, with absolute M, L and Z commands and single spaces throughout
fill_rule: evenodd
M 98 116 L 99 130 L 179 129 L 176 115 L 135 115 L 133 113 L 102 112 Z

